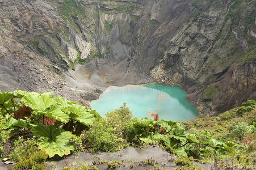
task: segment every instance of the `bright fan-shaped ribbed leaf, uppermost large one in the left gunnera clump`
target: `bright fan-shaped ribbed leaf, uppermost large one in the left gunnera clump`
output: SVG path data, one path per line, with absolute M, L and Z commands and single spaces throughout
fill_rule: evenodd
M 57 103 L 50 96 L 43 94 L 27 94 L 22 98 L 22 102 L 38 113 L 45 112 L 47 108 Z

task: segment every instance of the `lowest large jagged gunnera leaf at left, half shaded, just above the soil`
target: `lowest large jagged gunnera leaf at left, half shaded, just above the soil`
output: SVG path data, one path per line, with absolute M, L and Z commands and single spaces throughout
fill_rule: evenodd
M 73 145 L 69 145 L 69 138 L 72 137 L 70 131 L 56 129 L 54 125 L 45 126 L 43 124 L 33 126 L 32 133 L 36 135 L 37 145 L 44 150 L 50 158 L 54 155 L 69 155 L 74 150 Z

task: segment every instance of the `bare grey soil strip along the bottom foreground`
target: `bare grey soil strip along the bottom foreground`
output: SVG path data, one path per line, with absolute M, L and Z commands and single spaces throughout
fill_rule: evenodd
M 64 167 L 79 168 L 82 164 L 94 164 L 98 169 L 110 169 L 107 163 L 115 160 L 121 162 L 120 167 L 116 169 L 154 169 L 156 167 L 164 169 L 174 169 L 177 164 L 173 162 L 177 157 L 171 156 L 165 150 L 158 146 L 147 146 L 141 149 L 133 147 L 125 148 L 118 152 L 97 152 L 86 153 L 81 152 L 78 155 L 67 156 L 66 159 L 54 159 L 46 163 L 47 169 L 61 169 Z M 147 162 L 153 160 L 153 164 Z M 194 162 L 194 165 L 202 169 L 213 168 L 211 164 L 200 164 Z M 5 165 L 0 162 L 1 170 L 10 169 L 11 165 Z

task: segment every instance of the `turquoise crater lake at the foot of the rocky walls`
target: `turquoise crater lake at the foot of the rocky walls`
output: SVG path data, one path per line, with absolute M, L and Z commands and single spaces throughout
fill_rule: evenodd
M 181 87 L 157 83 L 111 86 L 90 104 L 101 116 L 125 102 L 133 117 L 145 118 L 150 117 L 151 113 L 158 113 L 163 120 L 183 122 L 198 117 L 198 110 L 186 100 L 186 96 Z

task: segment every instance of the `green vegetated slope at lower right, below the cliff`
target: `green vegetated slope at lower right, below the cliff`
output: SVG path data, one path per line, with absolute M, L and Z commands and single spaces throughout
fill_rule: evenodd
M 183 125 L 186 132 L 196 134 L 196 139 L 199 141 L 199 143 L 194 144 L 193 149 L 188 154 L 189 156 L 200 160 L 200 162 L 215 162 L 221 159 L 223 162 L 220 164 L 223 168 L 230 166 L 228 159 L 232 160 L 233 165 L 238 167 L 253 167 L 252 160 L 245 160 L 249 155 L 256 153 L 255 100 L 246 101 L 242 107 L 231 109 L 217 117 L 198 118 L 184 122 Z M 227 149 L 236 148 L 236 152 L 227 152 L 226 156 L 221 156 L 221 154 L 213 156 L 214 153 L 208 146 L 219 145 L 219 143 L 215 140 L 212 141 L 211 138 L 225 142 L 226 146 L 223 147 Z

